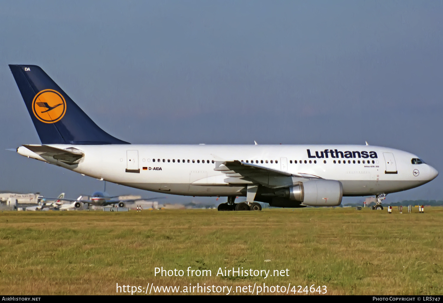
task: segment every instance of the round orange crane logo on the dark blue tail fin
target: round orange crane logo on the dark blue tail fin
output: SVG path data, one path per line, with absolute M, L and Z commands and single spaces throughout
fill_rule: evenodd
M 60 121 L 66 113 L 65 98 L 54 89 L 44 89 L 35 95 L 32 112 L 43 123 Z

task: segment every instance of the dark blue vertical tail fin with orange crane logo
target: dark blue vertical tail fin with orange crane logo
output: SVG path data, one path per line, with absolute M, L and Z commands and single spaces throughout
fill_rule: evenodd
M 39 66 L 9 68 L 42 144 L 129 144 L 99 128 Z

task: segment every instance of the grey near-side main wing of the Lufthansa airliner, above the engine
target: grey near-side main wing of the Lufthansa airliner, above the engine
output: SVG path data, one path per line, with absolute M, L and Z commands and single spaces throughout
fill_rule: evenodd
M 225 183 L 230 184 L 253 184 L 259 183 L 267 187 L 282 187 L 292 184 L 293 179 L 300 181 L 318 178 L 314 175 L 291 174 L 287 171 L 279 171 L 254 163 L 245 163 L 238 160 L 217 161 L 214 171 L 220 171 L 226 175 Z

